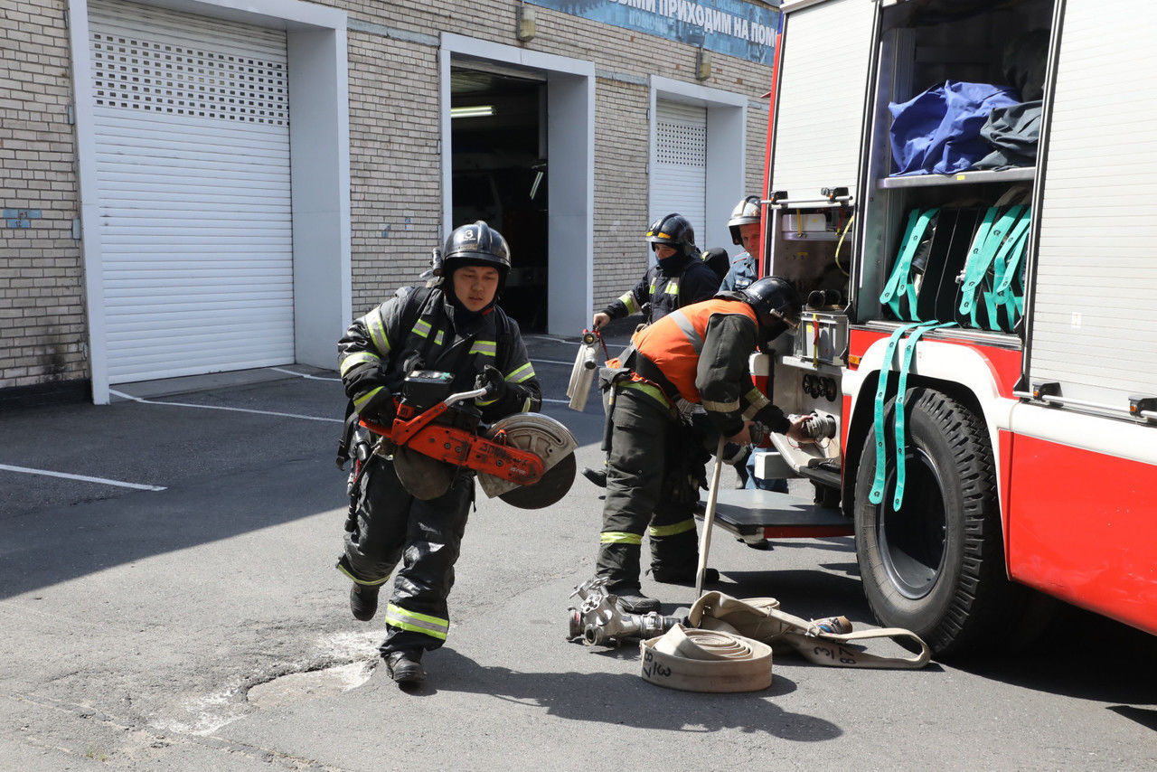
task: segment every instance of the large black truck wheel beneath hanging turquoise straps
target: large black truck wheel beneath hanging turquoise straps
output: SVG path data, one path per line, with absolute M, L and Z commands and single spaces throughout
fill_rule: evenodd
M 896 491 L 896 400 L 885 409 L 884 500 L 868 500 L 876 475 L 875 436 L 860 455 L 855 485 L 856 557 L 864 594 L 884 626 L 920 635 L 937 656 L 977 653 L 1000 642 L 997 627 L 1019 593 L 1004 569 L 996 476 L 988 433 L 951 397 L 908 389 L 906 483 Z

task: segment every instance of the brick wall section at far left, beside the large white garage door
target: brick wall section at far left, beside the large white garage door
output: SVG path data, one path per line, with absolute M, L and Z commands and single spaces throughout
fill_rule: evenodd
M 88 377 L 64 0 L 0 8 L 0 387 Z

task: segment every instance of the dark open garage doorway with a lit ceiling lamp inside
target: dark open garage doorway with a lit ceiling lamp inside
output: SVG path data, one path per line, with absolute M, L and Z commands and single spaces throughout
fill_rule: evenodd
M 510 244 L 502 308 L 547 328 L 546 79 L 489 63 L 450 69 L 454 226 L 485 220 Z

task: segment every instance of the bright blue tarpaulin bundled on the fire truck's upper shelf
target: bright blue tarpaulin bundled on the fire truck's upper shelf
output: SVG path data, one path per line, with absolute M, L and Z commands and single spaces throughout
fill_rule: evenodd
M 891 103 L 893 177 L 963 171 L 988 155 L 992 146 L 980 137 L 993 108 L 1020 100 L 1004 86 L 944 81 L 923 94 Z

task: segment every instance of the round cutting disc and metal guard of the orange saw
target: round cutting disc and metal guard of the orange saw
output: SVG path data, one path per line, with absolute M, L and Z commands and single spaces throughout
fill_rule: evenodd
M 493 440 L 501 432 L 506 433 L 506 441 L 510 447 L 518 448 L 519 450 L 526 450 L 541 458 L 543 466 L 546 468 L 546 472 L 538 480 L 538 483 L 532 483 L 531 485 L 519 485 L 513 480 L 504 480 L 501 477 L 480 472 L 478 475 L 478 483 L 481 485 L 482 492 L 492 499 L 494 497 L 501 497 L 504 493 L 515 491 L 516 488 L 519 492 L 525 491 L 529 494 L 531 490 L 538 488 L 541 483 L 551 481 L 551 485 L 543 485 L 540 488 L 545 497 L 539 497 L 543 498 L 541 501 L 538 501 L 538 498 L 536 497 L 530 497 L 528 500 L 526 497 L 521 494 L 513 497 L 511 499 L 503 498 L 503 500 L 517 507 L 537 509 L 539 507 L 552 505 L 561 499 L 570 488 L 570 485 L 560 485 L 560 483 L 563 483 L 560 478 L 560 473 L 565 472 L 565 470 L 569 468 L 572 470 L 570 478 L 572 480 L 574 479 L 574 451 L 575 448 L 578 447 L 578 442 L 575 440 L 574 435 L 570 434 L 570 429 L 550 416 L 544 416 L 541 413 L 517 413 L 515 416 L 503 418 L 491 426 L 491 428 L 486 432 L 486 438 L 488 440 Z M 569 463 L 563 463 L 567 461 L 569 461 Z M 560 463 L 562 466 L 559 472 L 552 475 L 552 470 L 555 466 L 559 466 Z M 550 480 L 547 480 L 547 478 L 550 478 Z M 561 491 L 559 488 L 561 488 Z

